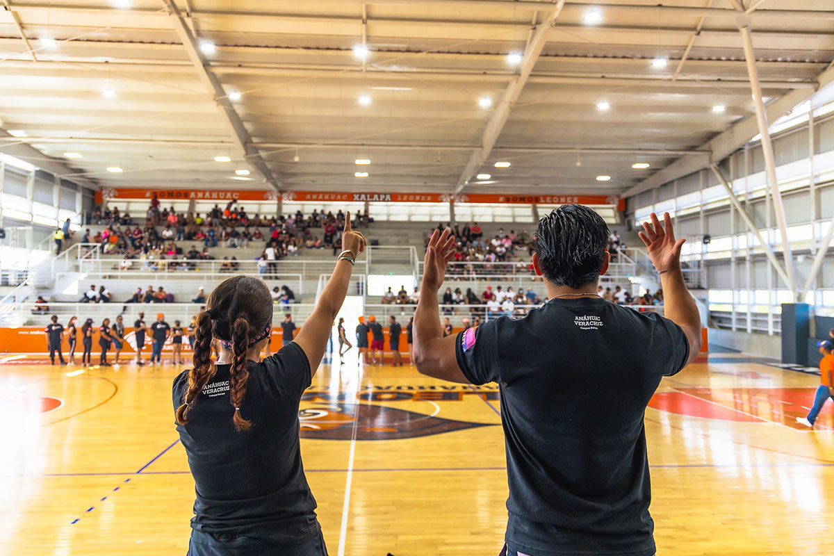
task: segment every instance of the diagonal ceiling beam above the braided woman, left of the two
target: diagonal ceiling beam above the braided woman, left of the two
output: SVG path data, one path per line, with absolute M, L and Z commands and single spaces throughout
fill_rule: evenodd
M 217 108 L 224 117 L 224 123 L 229 126 L 234 142 L 237 143 L 249 163 L 251 163 L 258 170 L 267 183 L 269 183 L 276 191 L 279 191 L 280 184 L 278 180 L 274 177 L 272 171 L 264 162 L 264 158 L 261 158 L 258 149 L 255 148 L 252 142 L 252 137 L 249 135 L 249 131 L 247 131 L 243 121 L 241 121 L 240 116 L 235 111 L 234 106 L 229 100 L 229 97 L 226 95 L 219 79 L 214 75 L 214 73 L 211 73 L 208 62 L 206 62 L 203 55 L 199 52 L 197 38 L 194 37 L 191 32 L 191 28 L 188 27 L 188 23 L 186 23 L 185 18 L 183 18 L 182 14 L 179 12 L 179 8 L 177 8 L 177 5 L 173 2 L 173 0 L 162 0 L 162 2 L 165 5 L 165 8 L 168 9 L 168 15 L 173 21 L 173 28 L 177 32 L 180 42 L 183 43 L 185 53 L 188 54 L 188 58 L 197 70 L 200 81 L 203 82 L 208 90 L 208 93 L 213 95 L 214 102 L 217 103 Z

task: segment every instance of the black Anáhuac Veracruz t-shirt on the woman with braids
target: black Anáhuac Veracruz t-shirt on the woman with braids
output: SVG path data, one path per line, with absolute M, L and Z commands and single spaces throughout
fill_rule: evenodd
M 217 366 L 188 409 L 188 424 L 177 426 L 197 487 L 192 528 L 288 544 L 318 533 L 299 446 L 299 402 L 310 382 L 309 361 L 297 343 L 249 362 L 240 411 L 253 427 L 238 432 L 229 365 Z M 173 381 L 174 410 L 187 389 L 184 371 Z

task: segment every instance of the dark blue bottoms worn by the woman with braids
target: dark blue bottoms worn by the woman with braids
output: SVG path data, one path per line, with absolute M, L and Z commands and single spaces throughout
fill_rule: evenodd
M 187 556 L 327 556 L 321 529 L 307 540 L 287 545 L 239 534 L 191 530 Z

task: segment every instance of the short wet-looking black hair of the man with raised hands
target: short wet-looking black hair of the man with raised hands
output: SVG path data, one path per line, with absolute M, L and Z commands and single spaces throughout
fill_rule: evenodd
M 600 276 L 608 247 L 608 225 L 588 207 L 566 204 L 541 218 L 533 248 L 541 272 L 557 286 L 579 289 Z

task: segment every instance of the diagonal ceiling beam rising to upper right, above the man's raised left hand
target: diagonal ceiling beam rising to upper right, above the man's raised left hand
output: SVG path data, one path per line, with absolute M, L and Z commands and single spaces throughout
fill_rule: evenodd
M 542 49 L 545 48 L 550 27 L 562 12 L 562 8 L 565 6 L 565 0 L 557 0 L 555 7 L 554 4 L 550 4 L 550 6 L 553 8 L 535 29 L 535 33 L 532 34 L 527 43 L 523 58 L 521 58 L 518 77 L 507 85 L 500 103 L 495 107 L 495 111 L 486 123 L 484 134 L 481 137 L 480 147 L 476 148 L 472 153 L 469 163 L 466 164 L 463 173 L 460 174 L 460 178 L 458 178 L 458 182 L 455 184 L 455 194 L 460 193 L 465 188 L 481 164 L 490 157 L 490 152 L 495 147 L 495 142 L 498 140 L 501 130 L 504 129 L 505 123 L 507 123 L 507 118 L 510 118 L 510 112 L 512 112 L 515 102 L 520 97 L 521 91 L 524 90 L 524 86 L 530 78 L 530 73 L 533 72 L 533 67 L 538 61 Z M 544 8 L 544 3 L 540 3 L 540 8 Z

